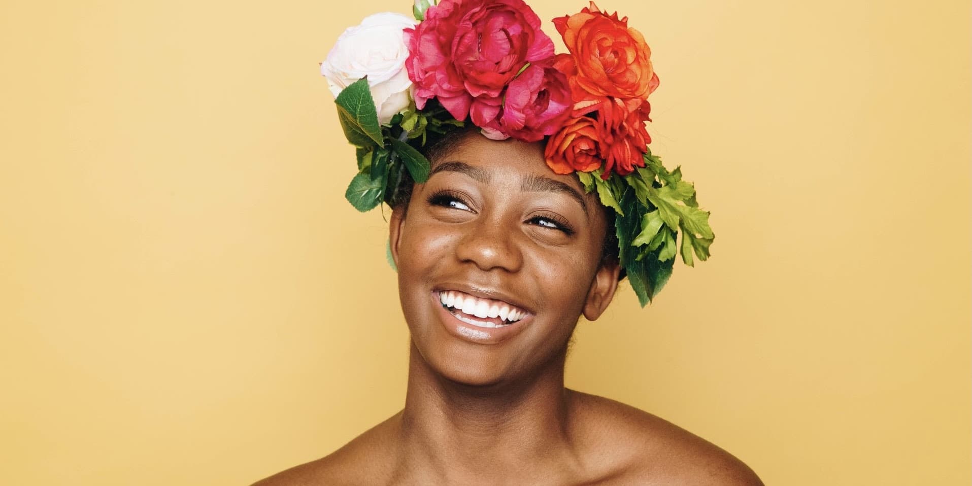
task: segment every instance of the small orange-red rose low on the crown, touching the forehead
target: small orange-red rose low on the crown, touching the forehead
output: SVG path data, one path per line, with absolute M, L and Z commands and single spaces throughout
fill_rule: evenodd
M 568 120 L 547 140 L 543 155 L 547 165 L 558 174 L 590 172 L 604 162 L 601 156 L 598 122 L 588 117 Z

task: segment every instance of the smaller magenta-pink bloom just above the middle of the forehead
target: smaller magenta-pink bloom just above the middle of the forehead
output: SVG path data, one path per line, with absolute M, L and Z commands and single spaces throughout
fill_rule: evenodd
M 560 129 L 571 114 L 571 104 L 567 77 L 554 68 L 532 64 L 506 87 L 502 99 L 475 98 L 470 115 L 489 138 L 537 142 Z

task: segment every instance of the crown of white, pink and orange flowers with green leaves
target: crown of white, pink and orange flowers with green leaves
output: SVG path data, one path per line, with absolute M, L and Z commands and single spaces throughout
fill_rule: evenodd
M 594 2 L 553 19 L 554 54 L 522 0 L 415 0 L 348 28 L 321 64 L 338 118 L 357 147 L 345 197 L 360 211 L 391 203 L 404 171 L 429 178 L 419 148 L 471 122 L 482 134 L 537 142 L 558 174 L 576 174 L 616 213 L 620 264 L 642 307 L 672 275 L 676 254 L 709 258 L 714 235 L 695 188 L 648 149 L 651 51 L 628 18 Z M 677 234 L 681 232 L 680 244 Z

